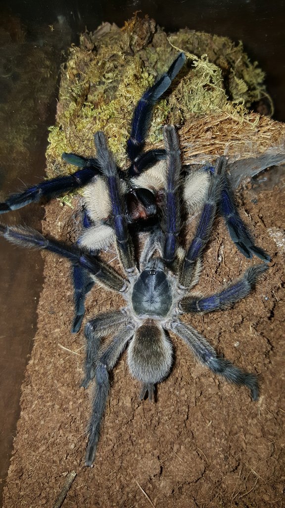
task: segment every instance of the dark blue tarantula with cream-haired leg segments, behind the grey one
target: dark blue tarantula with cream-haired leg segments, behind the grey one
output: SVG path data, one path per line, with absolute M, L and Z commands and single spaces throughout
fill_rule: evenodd
M 126 147 L 130 166 L 125 171 L 119 169 L 117 176 L 126 195 L 124 227 L 133 235 L 138 231 L 151 230 L 159 224 L 167 171 L 166 152 L 164 149 L 144 151 L 144 148 L 153 108 L 180 72 L 185 61 L 184 53 L 177 55 L 168 71 L 146 90 L 134 109 Z M 90 256 L 94 256 L 101 248 L 108 247 L 116 240 L 116 228 L 118 230 L 119 226 L 113 223 L 113 216 L 116 213 L 114 196 L 112 193 L 109 195 L 98 158 L 86 158 L 73 153 L 63 153 L 62 156 L 66 162 L 80 169 L 73 175 L 47 180 L 26 189 L 23 193 L 13 194 L 4 203 L 0 203 L 0 213 L 21 208 L 31 202 L 38 202 L 41 198 L 50 199 L 85 187 L 84 231 L 78 244 L 87 250 Z M 207 167 L 191 172 L 187 167 L 183 169 L 184 202 L 189 210 L 197 210 L 202 207 L 206 199 L 213 168 Z M 263 261 L 270 261 L 267 253 L 255 245 L 252 235 L 238 213 L 227 175 L 224 174 L 223 178 L 224 184 L 218 211 L 225 220 L 233 242 L 245 257 L 252 258 L 255 255 Z M 77 261 L 73 263 L 73 282 L 75 317 L 72 332 L 77 333 L 84 317 L 86 294 L 94 284 L 88 269 Z

